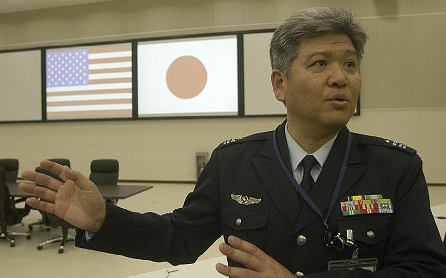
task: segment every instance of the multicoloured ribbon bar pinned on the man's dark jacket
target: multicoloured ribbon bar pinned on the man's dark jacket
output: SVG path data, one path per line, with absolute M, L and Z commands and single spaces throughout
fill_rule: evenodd
M 348 196 L 347 201 L 340 205 L 343 216 L 394 213 L 392 201 L 381 194 Z

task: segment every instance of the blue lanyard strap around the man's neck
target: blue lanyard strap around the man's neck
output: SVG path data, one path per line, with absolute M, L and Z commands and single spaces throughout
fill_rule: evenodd
M 285 127 L 286 128 L 286 127 Z M 274 130 L 273 134 L 273 144 L 274 144 L 274 151 L 277 156 L 277 159 L 280 162 L 280 165 L 282 166 L 283 171 L 287 175 L 288 179 L 293 183 L 293 185 L 296 187 L 299 194 L 302 196 L 302 198 L 307 202 L 308 205 L 316 212 L 323 221 L 323 224 L 325 225 L 326 229 L 328 228 L 328 216 L 330 216 L 331 211 L 334 208 L 334 205 L 336 203 L 336 199 L 338 198 L 339 190 L 341 189 L 342 181 L 344 180 L 344 175 L 346 173 L 347 169 L 347 162 L 348 157 L 350 156 L 350 148 L 351 148 L 351 133 L 348 132 L 348 139 L 347 139 L 347 146 L 344 153 L 344 158 L 342 160 L 341 170 L 339 171 L 338 180 L 336 182 L 335 190 L 333 191 L 333 195 L 331 196 L 331 202 L 330 206 L 328 207 L 327 215 L 325 217 L 322 216 L 321 210 L 316 206 L 316 204 L 313 202 L 313 200 L 310 198 L 310 196 L 303 190 L 302 186 L 299 185 L 299 183 L 296 181 L 296 179 L 293 177 L 293 174 L 288 170 L 287 166 L 285 165 L 285 162 L 283 162 L 282 156 L 279 152 L 279 147 L 277 145 L 277 138 L 276 138 L 276 130 Z

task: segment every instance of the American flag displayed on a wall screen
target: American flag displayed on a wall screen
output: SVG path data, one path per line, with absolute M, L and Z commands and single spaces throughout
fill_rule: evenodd
M 131 44 L 49 50 L 47 119 L 131 117 Z

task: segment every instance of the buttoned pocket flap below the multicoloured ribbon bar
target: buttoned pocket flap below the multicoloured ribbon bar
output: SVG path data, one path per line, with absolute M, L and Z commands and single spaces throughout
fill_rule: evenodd
M 347 236 L 347 229 L 353 230 L 353 239 L 368 244 L 375 244 L 389 236 L 393 216 L 383 217 L 360 215 L 337 219 L 338 231 Z

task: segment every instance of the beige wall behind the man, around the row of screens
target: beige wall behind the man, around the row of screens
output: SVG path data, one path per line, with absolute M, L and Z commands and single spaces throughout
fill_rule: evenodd
M 426 178 L 445 183 L 446 1 L 444 0 L 120 0 L 0 14 L 0 49 L 127 38 L 263 29 L 293 10 L 333 4 L 369 31 L 361 116 L 353 131 L 419 150 Z M 0 11 L 1 12 L 1 11 Z M 142 120 L 0 125 L 0 157 L 21 169 L 67 157 L 88 173 L 91 159 L 116 157 L 123 179 L 194 180 L 195 152 L 231 137 L 272 129 L 280 118 Z

